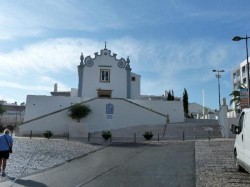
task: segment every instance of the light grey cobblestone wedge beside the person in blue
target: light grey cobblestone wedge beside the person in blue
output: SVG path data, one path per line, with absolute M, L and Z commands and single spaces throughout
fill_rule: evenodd
M 62 164 L 68 160 L 100 149 L 66 139 L 17 138 L 14 137 L 13 153 L 7 162 L 6 172 L 11 177 L 21 177 Z

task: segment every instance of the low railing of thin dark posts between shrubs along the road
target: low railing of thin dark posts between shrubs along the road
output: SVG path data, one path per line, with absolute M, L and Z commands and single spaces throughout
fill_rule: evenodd
M 151 141 L 166 141 L 166 140 L 174 140 L 174 141 L 195 141 L 195 140 L 210 140 L 214 138 L 222 138 L 224 136 L 220 133 L 219 126 L 214 127 L 179 127 L 174 126 L 171 124 L 171 127 L 167 127 L 166 133 L 163 136 L 163 129 L 162 131 L 154 131 L 153 137 Z M 44 137 L 43 133 L 45 131 L 25 131 L 23 132 L 23 136 L 29 137 L 32 139 L 33 137 Z M 72 138 L 70 137 L 70 134 L 68 132 L 63 131 L 51 131 L 53 133 L 53 137 L 61 137 L 66 139 L 81 139 L 82 141 L 88 142 L 88 143 L 100 143 L 102 144 L 104 139 L 102 138 L 102 132 L 89 132 L 87 135 L 79 137 L 79 138 Z M 111 131 L 112 133 L 112 131 Z M 134 133 L 127 133 L 123 134 L 122 136 L 120 134 L 112 133 L 112 137 L 107 142 L 144 142 L 146 141 L 143 137 L 144 132 L 134 132 Z M 18 134 L 17 134 L 18 135 Z

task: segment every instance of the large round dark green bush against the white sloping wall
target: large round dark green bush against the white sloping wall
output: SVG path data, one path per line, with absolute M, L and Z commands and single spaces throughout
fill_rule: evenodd
M 91 112 L 91 109 L 89 106 L 77 103 L 70 107 L 69 112 L 72 119 L 77 119 L 80 122 L 80 119 L 85 118 Z

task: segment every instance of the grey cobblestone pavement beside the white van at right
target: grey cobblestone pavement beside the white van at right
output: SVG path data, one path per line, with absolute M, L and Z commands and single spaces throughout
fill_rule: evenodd
M 250 174 L 235 168 L 233 145 L 234 140 L 196 141 L 196 187 L 250 186 Z

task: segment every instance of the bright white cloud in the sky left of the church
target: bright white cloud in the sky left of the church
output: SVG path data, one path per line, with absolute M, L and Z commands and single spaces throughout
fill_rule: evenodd
M 55 39 L 29 45 L 21 50 L 0 54 L 2 76 L 44 74 L 73 70 L 80 60 L 80 52 L 88 40 Z M 87 50 L 91 50 L 91 47 Z

